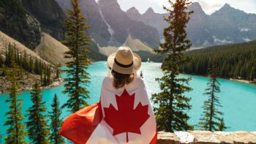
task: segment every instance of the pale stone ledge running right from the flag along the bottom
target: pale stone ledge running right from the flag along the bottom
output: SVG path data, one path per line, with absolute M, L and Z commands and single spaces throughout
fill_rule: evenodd
M 158 144 L 256 144 L 256 132 L 209 132 L 209 131 L 188 131 L 188 132 L 158 132 Z

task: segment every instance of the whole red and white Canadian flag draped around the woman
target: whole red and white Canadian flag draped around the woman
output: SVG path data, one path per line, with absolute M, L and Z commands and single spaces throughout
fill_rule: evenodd
M 113 88 L 102 82 L 100 102 L 65 119 L 59 134 L 74 143 L 157 143 L 157 124 L 143 80 Z

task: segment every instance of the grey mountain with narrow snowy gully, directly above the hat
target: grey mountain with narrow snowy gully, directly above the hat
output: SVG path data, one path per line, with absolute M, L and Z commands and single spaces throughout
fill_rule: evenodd
M 69 0 L 56 1 L 64 11 L 70 8 Z M 91 26 L 89 34 L 99 47 L 121 46 L 129 35 L 148 46 L 158 47 L 157 29 L 129 18 L 116 0 L 83 0 L 80 9 Z

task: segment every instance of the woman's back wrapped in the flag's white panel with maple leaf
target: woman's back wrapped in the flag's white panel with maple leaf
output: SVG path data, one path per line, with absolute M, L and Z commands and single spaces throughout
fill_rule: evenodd
M 114 137 L 112 143 L 151 143 L 157 125 L 140 76 L 118 89 L 113 86 L 113 76 L 106 76 L 100 102 L 102 126 Z

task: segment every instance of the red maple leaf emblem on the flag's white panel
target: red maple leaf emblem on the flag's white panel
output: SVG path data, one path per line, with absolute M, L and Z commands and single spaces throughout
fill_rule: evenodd
M 139 103 L 135 110 L 133 110 L 135 94 L 129 95 L 125 88 L 121 96 L 116 95 L 116 103 L 118 110 L 113 105 L 110 105 L 108 108 L 104 107 L 104 120 L 113 129 L 113 135 L 126 132 L 128 143 L 128 132 L 141 134 L 140 127 L 150 117 L 148 115 L 148 105 L 143 106 Z

